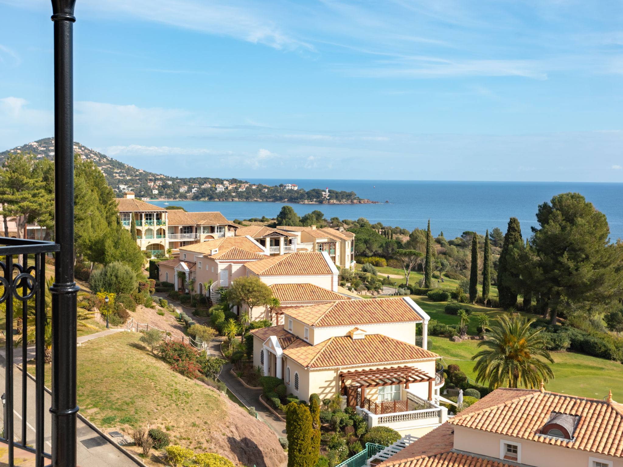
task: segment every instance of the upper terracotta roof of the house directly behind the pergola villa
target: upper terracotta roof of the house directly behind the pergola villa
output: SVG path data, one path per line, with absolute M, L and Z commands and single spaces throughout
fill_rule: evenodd
M 247 268 L 258 275 L 333 274 L 320 252 L 273 256 L 249 264 Z

